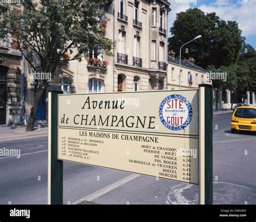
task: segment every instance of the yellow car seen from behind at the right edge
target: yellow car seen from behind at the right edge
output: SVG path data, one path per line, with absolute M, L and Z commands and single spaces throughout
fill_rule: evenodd
M 234 110 L 231 132 L 237 130 L 256 131 L 256 106 L 240 106 Z

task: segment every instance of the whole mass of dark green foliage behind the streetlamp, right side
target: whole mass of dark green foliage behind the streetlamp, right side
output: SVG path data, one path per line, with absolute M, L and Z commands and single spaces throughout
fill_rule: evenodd
M 208 72 L 227 73 L 227 81 L 213 80 L 218 90 L 251 91 L 256 88 L 256 53 L 245 44 L 237 22 L 221 20 L 215 13 L 205 14 L 194 8 L 177 14 L 169 38 L 169 49 L 179 52 L 180 46 L 201 34 L 202 38 L 186 45 L 188 53 L 181 58 L 193 57 L 197 65 Z

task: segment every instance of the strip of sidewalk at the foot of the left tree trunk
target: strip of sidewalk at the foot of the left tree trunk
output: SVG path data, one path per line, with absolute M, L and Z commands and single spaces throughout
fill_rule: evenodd
M 41 126 L 41 129 L 35 129 L 32 132 L 26 132 L 26 126 L 0 126 L 0 141 L 15 138 L 27 138 L 33 136 L 48 135 L 48 126 Z

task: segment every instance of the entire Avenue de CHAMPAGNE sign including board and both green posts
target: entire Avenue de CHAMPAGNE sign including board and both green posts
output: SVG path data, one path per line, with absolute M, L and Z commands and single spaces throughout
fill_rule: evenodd
M 212 86 L 49 93 L 48 203 L 63 204 L 63 161 L 199 184 L 212 204 Z

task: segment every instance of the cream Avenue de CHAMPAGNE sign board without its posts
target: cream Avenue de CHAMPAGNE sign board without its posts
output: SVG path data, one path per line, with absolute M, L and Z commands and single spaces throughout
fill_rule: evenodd
M 199 183 L 198 89 L 58 95 L 58 159 Z

